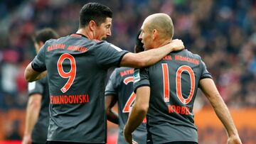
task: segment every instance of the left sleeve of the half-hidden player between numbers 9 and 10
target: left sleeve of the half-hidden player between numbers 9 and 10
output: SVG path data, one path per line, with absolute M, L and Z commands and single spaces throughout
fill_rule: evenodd
M 110 75 L 110 79 L 107 82 L 105 89 L 105 96 L 114 95 L 117 96 L 117 69 L 115 69 Z

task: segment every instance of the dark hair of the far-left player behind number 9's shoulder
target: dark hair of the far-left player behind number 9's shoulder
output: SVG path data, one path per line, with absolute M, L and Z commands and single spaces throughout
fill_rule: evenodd
M 47 40 L 51 38 L 59 38 L 60 36 L 52 28 L 43 28 L 41 31 L 37 31 L 32 40 L 34 43 L 43 42 L 46 43 Z

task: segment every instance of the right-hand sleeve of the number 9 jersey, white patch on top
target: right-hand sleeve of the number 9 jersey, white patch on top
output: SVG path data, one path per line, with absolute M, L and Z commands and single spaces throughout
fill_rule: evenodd
M 97 64 L 108 68 L 108 67 L 119 67 L 120 62 L 122 61 L 122 57 L 127 53 L 128 51 L 122 50 L 118 48 L 115 45 L 112 45 L 110 43 L 100 43 L 99 48 L 96 50 L 97 55 Z

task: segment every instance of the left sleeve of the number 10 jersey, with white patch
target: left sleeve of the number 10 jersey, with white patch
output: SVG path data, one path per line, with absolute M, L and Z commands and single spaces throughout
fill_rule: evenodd
M 143 86 L 150 86 L 148 67 L 134 70 L 134 93 Z

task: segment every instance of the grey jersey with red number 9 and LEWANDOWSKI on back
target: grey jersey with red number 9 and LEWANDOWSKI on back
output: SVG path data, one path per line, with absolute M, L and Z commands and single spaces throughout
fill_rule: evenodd
M 73 34 L 49 40 L 33 60 L 48 70 L 48 140 L 105 143 L 105 78 L 126 52 L 107 42 Z

